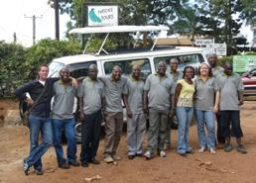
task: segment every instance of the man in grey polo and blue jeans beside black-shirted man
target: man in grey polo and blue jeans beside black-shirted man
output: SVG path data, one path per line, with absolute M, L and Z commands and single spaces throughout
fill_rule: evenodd
M 54 145 L 60 168 L 68 169 L 69 164 L 79 166 L 76 161 L 76 142 L 74 135 L 74 118 L 72 115 L 75 88 L 71 85 L 69 70 L 64 67 L 60 71 L 61 79 L 54 84 L 54 104 L 52 111 Z M 62 135 L 67 140 L 66 159 L 62 146 Z

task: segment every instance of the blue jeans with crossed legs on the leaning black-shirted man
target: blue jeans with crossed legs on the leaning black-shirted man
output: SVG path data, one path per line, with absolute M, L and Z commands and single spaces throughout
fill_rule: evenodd
M 30 115 L 30 155 L 25 161 L 37 170 L 42 169 L 41 157 L 53 144 L 53 127 L 51 118 L 42 118 Z M 39 144 L 39 134 L 42 133 L 43 141 Z

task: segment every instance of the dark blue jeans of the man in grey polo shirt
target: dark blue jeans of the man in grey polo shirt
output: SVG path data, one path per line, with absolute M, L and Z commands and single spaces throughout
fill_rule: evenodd
M 58 163 L 64 164 L 66 161 L 71 162 L 76 159 L 76 141 L 74 135 L 74 119 L 53 119 L 54 129 L 54 145 Z M 62 145 L 62 137 L 64 136 L 67 141 L 66 159 L 64 159 L 64 149 Z

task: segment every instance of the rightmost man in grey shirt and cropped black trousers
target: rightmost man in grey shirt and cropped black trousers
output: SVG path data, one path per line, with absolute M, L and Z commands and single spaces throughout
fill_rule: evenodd
M 237 73 L 233 73 L 233 67 L 229 62 L 225 63 L 223 74 L 217 77 L 217 84 L 220 92 L 220 131 L 221 135 L 225 137 L 224 150 L 226 152 L 232 150 L 230 137 L 233 136 L 236 137 L 237 151 L 246 153 L 247 151 L 241 142 L 243 133 L 240 126 L 240 106 L 243 105 L 243 83 L 241 77 Z

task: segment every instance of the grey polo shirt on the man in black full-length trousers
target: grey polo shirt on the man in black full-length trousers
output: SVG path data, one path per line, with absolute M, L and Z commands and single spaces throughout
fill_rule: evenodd
M 102 97 L 104 92 L 103 83 L 96 79 L 91 80 L 85 77 L 78 89 L 78 97 L 83 100 L 83 113 L 91 115 L 99 111 L 102 107 Z

